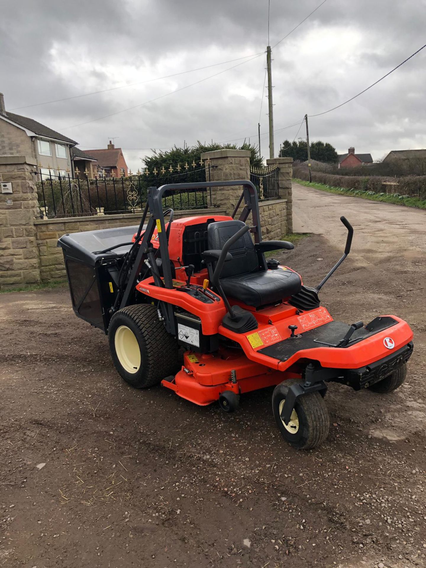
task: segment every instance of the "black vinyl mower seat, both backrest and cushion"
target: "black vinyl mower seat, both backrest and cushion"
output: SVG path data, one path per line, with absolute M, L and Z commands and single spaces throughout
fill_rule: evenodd
M 222 250 L 223 245 L 244 227 L 242 221 L 218 221 L 207 228 L 209 249 Z M 226 296 L 247 306 L 260 307 L 290 298 L 300 291 L 300 276 L 292 270 L 266 270 L 260 263 L 252 238 L 245 233 L 229 249 L 232 260 L 225 262 L 220 285 Z

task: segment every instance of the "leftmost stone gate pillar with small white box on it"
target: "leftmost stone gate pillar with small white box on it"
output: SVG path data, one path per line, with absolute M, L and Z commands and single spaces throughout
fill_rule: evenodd
M 40 282 L 35 166 L 30 157 L 0 156 L 0 287 Z

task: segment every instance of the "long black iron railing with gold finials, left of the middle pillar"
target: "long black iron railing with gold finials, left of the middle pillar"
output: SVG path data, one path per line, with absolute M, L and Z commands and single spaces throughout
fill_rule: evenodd
M 202 163 L 202 161 L 200 160 Z M 193 162 L 195 164 L 195 162 Z M 187 167 L 185 167 L 187 166 Z M 48 170 L 37 172 L 37 193 L 42 219 L 68 218 L 86 215 L 113 215 L 137 213 L 147 201 L 148 187 L 160 187 L 167 183 L 197 183 L 210 181 L 210 163 L 170 166 L 150 172 L 138 172 L 127 177 L 97 177 L 93 179 L 77 170 L 64 175 Z M 163 197 L 164 207 L 176 210 L 212 207 L 211 189 L 205 187 L 172 191 Z

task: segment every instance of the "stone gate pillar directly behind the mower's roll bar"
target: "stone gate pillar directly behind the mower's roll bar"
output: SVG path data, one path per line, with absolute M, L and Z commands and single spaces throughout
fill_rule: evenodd
M 214 150 L 204 152 L 201 159 L 210 158 L 210 181 L 230 181 L 232 179 L 250 179 L 250 151 L 249 150 Z M 206 166 L 206 173 L 208 167 Z M 208 173 L 207 173 L 208 179 Z M 216 207 L 224 207 L 231 215 L 240 198 L 241 186 L 212 187 L 212 203 Z

